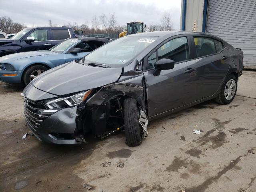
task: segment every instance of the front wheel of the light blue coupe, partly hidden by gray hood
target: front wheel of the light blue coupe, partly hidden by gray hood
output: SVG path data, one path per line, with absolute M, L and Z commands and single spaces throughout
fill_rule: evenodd
M 23 75 L 23 82 L 25 85 L 28 85 L 30 81 L 36 78 L 41 73 L 47 71 L 48 68 L 42 65 L 34 65 L 26 69 Z

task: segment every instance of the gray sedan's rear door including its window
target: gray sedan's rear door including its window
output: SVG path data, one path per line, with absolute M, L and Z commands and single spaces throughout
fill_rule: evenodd
M 216 93 L 230 67 L 229 48 L 209 36 L 190 36 L 196 50 L 196 97 L 198 100 Z

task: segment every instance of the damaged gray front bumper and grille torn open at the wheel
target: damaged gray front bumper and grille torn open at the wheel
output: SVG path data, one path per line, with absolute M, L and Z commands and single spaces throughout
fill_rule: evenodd
M 36 103 L 24 101 L 25 120 L 33 134 L 41 141 L 54 144 L 76 144 L 76 106 L 60 110 L 42 110 Z

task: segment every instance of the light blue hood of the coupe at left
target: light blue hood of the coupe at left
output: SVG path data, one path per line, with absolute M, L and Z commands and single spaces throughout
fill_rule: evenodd
M 51 54 L 58 54 L 58 53 L 55 53 L 53 51 L 46 51 L 46 50 L 14 53 L 14 54 L 0 57 L 0 62 L 8 63 L 17 59 L 34 57 L 34 56 L 42 56 L 42 55 L 51 55 Z

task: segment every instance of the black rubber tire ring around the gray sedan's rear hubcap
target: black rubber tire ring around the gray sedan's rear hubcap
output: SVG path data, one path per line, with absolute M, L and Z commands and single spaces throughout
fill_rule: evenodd
M 226 87 L 226 84 L 227 82 L 230 80 L 230 79 L 233 79 L 235 82 L 236 82 L 236 90 L 237 90 L 237 78 L 236 76 L 234 76 L 233 74 L 229 74 L 224 83 L 222 84 L 222 87 L 220 88 L 220 92 L 218 94 L 218 96 L 215 98 L 215 102 L 217 102 L 218 104 L 222 104 L 222 105 L 226 105 L 226 104 L 230 104 L 232 102 L 232 100 L 235 98 L 236 96 L 236 91 L 235 91 L 235 94 L 234 96 L 230 99 L 230 100 L 227 100 L 225 98 L 225 95 L 224 95 L 224 91 L 225 91 L 225 87 Z

